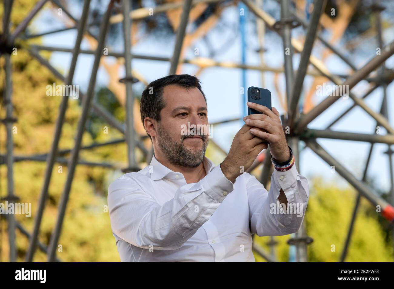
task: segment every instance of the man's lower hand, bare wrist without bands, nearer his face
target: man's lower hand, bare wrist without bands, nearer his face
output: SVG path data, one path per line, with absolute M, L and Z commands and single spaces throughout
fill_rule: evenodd
M 254 128 L 256 131 L 260 128 Z M 232 183 L 235 179 L 246 172 L 252 165 L 257 155 L 268 147 L 267 143 L 260 137 L 256 137 L 251 132 L 251 126 L 243 125 L 234 136 L 229 154 L 220 164 L 225 177 Z

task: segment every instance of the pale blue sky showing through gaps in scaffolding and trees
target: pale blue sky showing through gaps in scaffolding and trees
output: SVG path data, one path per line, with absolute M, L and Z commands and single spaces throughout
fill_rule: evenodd
M 74 13 L 74 16 L 78 18 L 81 12 L 72 11 L 72 13 Z M 248 17 L 247 13 L 245 17 Z M 37 30 L 36 32 L 44 32 L 56 29 L 58 27 L 63 27 L 63 25 L 59 23 L 58 20 L 54 20 L 53 25 L 51 24 L 50 27 L 48 27 L 47 20 L 51 17 L 52 15 L 50 13 L 46 11 L 41 12 L 39 17 L 37 17 L 33 22 L 33 26 L 35 27 L 35 30 Z M 231 24 L 238 25 L 238 9 L 236 7 L 232 6 L 225 9 L 222 13 L 222 17 L 223 19 L 221 21 L 226 21 Z M 46 19 L 46 21 L 44 22 L 43 19 Z M 247 50 L 247 64 L 258 65 L 258 54 L 253 51 L 253 48 L 257 47 L 257 35 L 253 33 L 253 27 L 251 27 L 252 25 L 253 23 L 248 22 L 246 27 L 246 38 L 249 46 Z M 300 33 L 300 31 L 302 31 L 300 29 L 301 28 L 297 28 L 296 30 L 294 30 L 294 35 Z M 224 43 L 226 43 L 226 41 L 233 35 L 234 31 L 230 29 L 223 31 L 214 30 L 208 34 L 208 39 L 210 40 L 212 46 L 219 48 Z M 390 41 L 392 41 L 393 36 L 393 29 L 387 28 L 383 35 L 385 43 L 389 43 Z M 75 30 L 57 33 L 56 35 L 48 35 L 43 37 L 43 45 L 73 48 L 75 37 Z M 326 39 L 329 39 L 328 37 L 329 35 L 327 35 Z M 370 41 L 375 41 L 375 39 L 371 39 Z M 135 54 L 171 57 L 174 42 L 174 38 L 167 39 L 164 43 L 159 42 L 154 37 L 148 37 L 147 39 L 140 41 L 136 46 L 134 46 L 132 48 L 132 51 Z M 319 41 L 316 41 L 315 44 L 316 45 L 314 46 L 312 54 L 320 57 L 323 46 Z M 108 44 L 107 46 L 109 47 L 109 50 L 112 51 L 116 50 L 120 52 L 123 49 L 122 43 L 113 43 Z M 193 45 L 193 47 L 199 48 L 200 56 L 208 57 L 208 50 L 203 41 L 197 41 Z M 268 49 L 265 54 L 266 64 L 271 67 L 281 67 L 283 65 L 283 50 L 281 38 L 278 35 L 270 35 L 269 37 L 266 37 L 265 47 Z M 373 46 L 371 46 L 372 48 L 370 50 L 368 50 L 368 46 L 366 47 L 367 48 L 360 47 L 361 53 L 353 53 L 351 55 L 348 54 L 351 61 L 353 61 L 353 63 L 355 63 L 357 67 L 362 67 L 362 65 L 364 65 L 366 61 L 376 55 L 376 50 Z M 84 41 L 82 43 L 82 48 L 89 49 L 89 45 L 87 45 L 87 43 Z M 240 51 L 240 38 L 238 37 L 234 40 L 234 43 L 230 44 L 229 49 L 225 50 L 223 53 L 219 53 L 215 57 L 215 60 L 240 63 Z M 342 51 L 345 50 L 342 49 Z M 186 54 L 186 57 L 194 57 L 193 48 L 190 48 L 190 50 Z M 54 65 L 58 69 L 61 69 L 62 71 L 68 70 L 70 61 L 71 54 L 62 52 L 52 53 L 52 57 L 50 59 L 52 65 Z M 294 57 L 295 69 L 298 66 L 298 61 L 299 55 L 297 54 Z M 79 84 L 81 91 L 85 91 L 87 88 L 87 83 L 89 81 L 92 65 L 93 56 L 85 54 L 81 54 L 79 56 L 76 67 L 76 74 L 74 76 L 74 84 Z M 344 64 L 342 60 L 335 56 L 330 56 L 326 61 L 326 65 L 333 73 L 347 74 L 349 71 L 348 66 Z M 394 57 L 388 59 L 386 65 L 387 67 L 393 67 Z M 138 70 L 138 72 L 142 74 L 148 82 L 165 76 L 169 71 L 169 63 L 163 61 L 134 59 L 132 61 L 132 67 L 133 69 Z M 196 70 L 196 66 L 185 64 L 183 65 L 182 73 L 194 75 Z M 203 91 L 207 96 L 208 117 L 210 122 L 217 122 L 220 120 L 244 116 L 244 108 L 240 105 L 240 87 L 242 86 L 240 69 L 228 69 L 219 67 L 207 68 L 199 75 L 199 78 L 202 82 Z M 270 72 L 265 72 L 264 81 L 264 88 L 269 89 L 272 92 L 272 105 L 276 107 L 280 113 L 282 113 L 283 110 L 279 104 L 277 96 L 275 95 L 275 89 L 273 87 L 273 74 Z M 311 81 L 312 78 L 307 77 L 304 82 L 304 87 L 309 87 Z M 106 74 L 106 71 L 104 69 L 100 69 L 97 78 L 97 85 L 104 86 L 107 82 L 108 76 Z M 280 84 L 281 91 L 284 93 L 285 83 L 283 75 L 280 78 Z M 247 71 L 246 88 L 249 86 L 262 87 L 260 72 L 256 70 Z M 368 83 L 361 82 L 352 89 L 352 92 L 360 97 L 364 93 L 364 91 L 366 91 L 367 87 Z M 390 98 L 390 95 L 392 95 L 393 92 L 393 85 L 391 84 L 388 86 L 388 111 L 390 124 L 392 126 L 394 126 L 394 121 L 392 117 L 394 111 L 394 100 L 393 98 Z M 374 93 L 372 93 L 365 100 L 365 102 L 366 104 L 368 104 L 368 106 L 374 109 L 374 111 L 379 111 L 382 96 L 382 89 L 379 88 Z M 315 103 L 319 103 L 324 97 L 325 96 L 314 96 Z M 331 106 L 322 115 L 320 115 L 320 117 L 311 122 L 309 124 L 309 128 L 324 129 L 331 120 L 335 119 L 338 115 L 340 115 L 340 113 L 342 113 L 342 111 L 345 111 L 352 104 L 353 101 L 350 98 L 348 100 L 338 100 L 333 106 Z M 241 122 L 231 122 L 216 126 L 214 128 L 214 140 L 222 148 L 228 151 L 231 145 L 232 138 L 235 132 L 240 129 L 240 127 Z M 335 124 L 335 126 L 333 126 L 333 130 L 344 132 L 372 133 L 375 131 L 375 120 L 372 119 L 372 117 L 365 113 L 361 108 L 356 107 L 346 117 L 342 118 L 340 122 Z M 384 128 L 382 128 L 382 131 L 382 134 L 386 133 Z M 339 160 L 348 170 L 353 172 L 357 178 L 361 178 L 370 144 L 329 139 L 318 139 L 318 143 L 320 143 L 320 145 L 322 145 L 328 152 L 330 152 L 333 157 Z M 388 158 L 387 155 L 383 153 L 385 151 L 387 151 L 387 145 L 375 145 L 374 153 L 372 155 L 372 162 L 368 170 L 368 176 L 376 179 L 376 183 L 377 185 L 379 185 L 380 190 L 388 190 L 390 187 Z M 346 184 L 343 179 L 338 176 L 338 174 L 333 174 L 329 165 L 327 165 L 322 159 L 320 159 L 320 157 L 316 156 L 309 148 L 301 152 L 300 158 L 300 170 L 303 175 L 308 177 L 323 176 L 325 180 L 336 182 L 338 183 L 338 185 Z

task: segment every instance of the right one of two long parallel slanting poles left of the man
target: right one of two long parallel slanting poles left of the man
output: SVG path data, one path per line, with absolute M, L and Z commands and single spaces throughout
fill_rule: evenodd
M 76 162 L 78 160 L 78 154 L 81 146 L 82 135 L 85 131 L 85 124 L 87 120 L 87 114 L 89 112 L 89 106 L 91 104 L 91 100 L 93 98 L 95 84 L 96 84 L 96 77 L 97 77 L 97 70 L 99 69 L 100 59 L 102 56 L 102 51 L 104 48 L 104 41 L 108 30 L 108 22 L 110 20 L 110 15 L 113 7 L 113 0 L 110 1 L 108 4 L 107 11 L 102 19 L 100 25 L 100 35 L 99 35 L 99 43 L 97 45 L 95 61 L 93 63 L 91 77 L 89 81 L 89 86 L 87 89 L 87 93 L 85 98 L 82 102 L 82 115 L 80 117 L 80 121 L 78 122 L 77 134 L 75 137 L 75 146 L 72 150 L 72 154 L 70 157 L 69 165 L 68 165 L 68 173 L 67 173 L 67 180 L 65 183 L 65 187 L 63 193 L 61 195 L 60 205 L 59 205 L 59 213 L 58 218 L 56 221 L 56 226 L 54 232 L 52 233 L 49 247 L 48 247 L 48 261 L 53 261 L 56 256 L 56 247 L 58 246 L 58 240 L 60 237 L 61 226 L 63 224 L 63 219 L 65 215 L 65 210 L 67 206 L 67 201 L 69 199 L 69 194 L 71 190 L 72 179 L 74 177 Z

